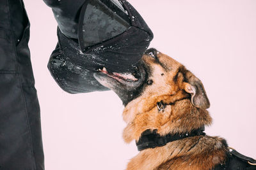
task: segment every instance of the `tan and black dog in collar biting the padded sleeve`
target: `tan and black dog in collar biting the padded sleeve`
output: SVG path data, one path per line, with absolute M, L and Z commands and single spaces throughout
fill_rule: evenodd
M 168 55 L 150 48 L 134 73 L 103 67 L 94 77 L 124 103 L 123 138 L 140 151 L 127 170 L 256 169 L 254 159 L 204 133 L 212 122 L 204 85 Z

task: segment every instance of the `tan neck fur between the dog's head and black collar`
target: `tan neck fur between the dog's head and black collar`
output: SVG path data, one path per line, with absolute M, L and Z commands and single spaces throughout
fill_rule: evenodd
M 136 112 L 136 108 L 133 108 Z M 166 134 L 182 134 L 210 125 L 212 119 L 207 110 L 196 108 L 189 99 L 168 104 L 159 111 L 157 103 L 154 108 L 144 113 L 132 113 L 134 118 L 124 129 L 124 141 L 138 141 L 144 131 L 156 130 L 161 136 Z M 191 124 L 193 122 L 193 124 Z

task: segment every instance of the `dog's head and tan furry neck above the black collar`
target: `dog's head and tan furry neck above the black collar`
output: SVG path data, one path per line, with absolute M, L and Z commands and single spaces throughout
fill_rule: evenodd
M 210 103 L 202 82 L 182 64 L 154 48 L 145 52 L 134 74 L 102 69 L 94 76 L 116 92 L 125 105 L 127 127 L 123 137 L 127 143 L 138 140 L 148 129 L 157 129 L 164 135 L 211 124 L 205 110 Z

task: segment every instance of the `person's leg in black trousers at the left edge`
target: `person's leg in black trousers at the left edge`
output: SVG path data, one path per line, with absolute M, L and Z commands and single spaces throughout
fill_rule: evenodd
M 0 1 L 0 169 L 44 169 L 40 108 L 22 0 Z

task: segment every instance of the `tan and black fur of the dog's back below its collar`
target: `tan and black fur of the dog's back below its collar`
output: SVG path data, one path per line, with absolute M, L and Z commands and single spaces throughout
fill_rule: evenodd
M 146 149 L 131 159 L 126 170 L 212 169 L 225 162 L 227 148 L 221 138 L 194 136 Z

